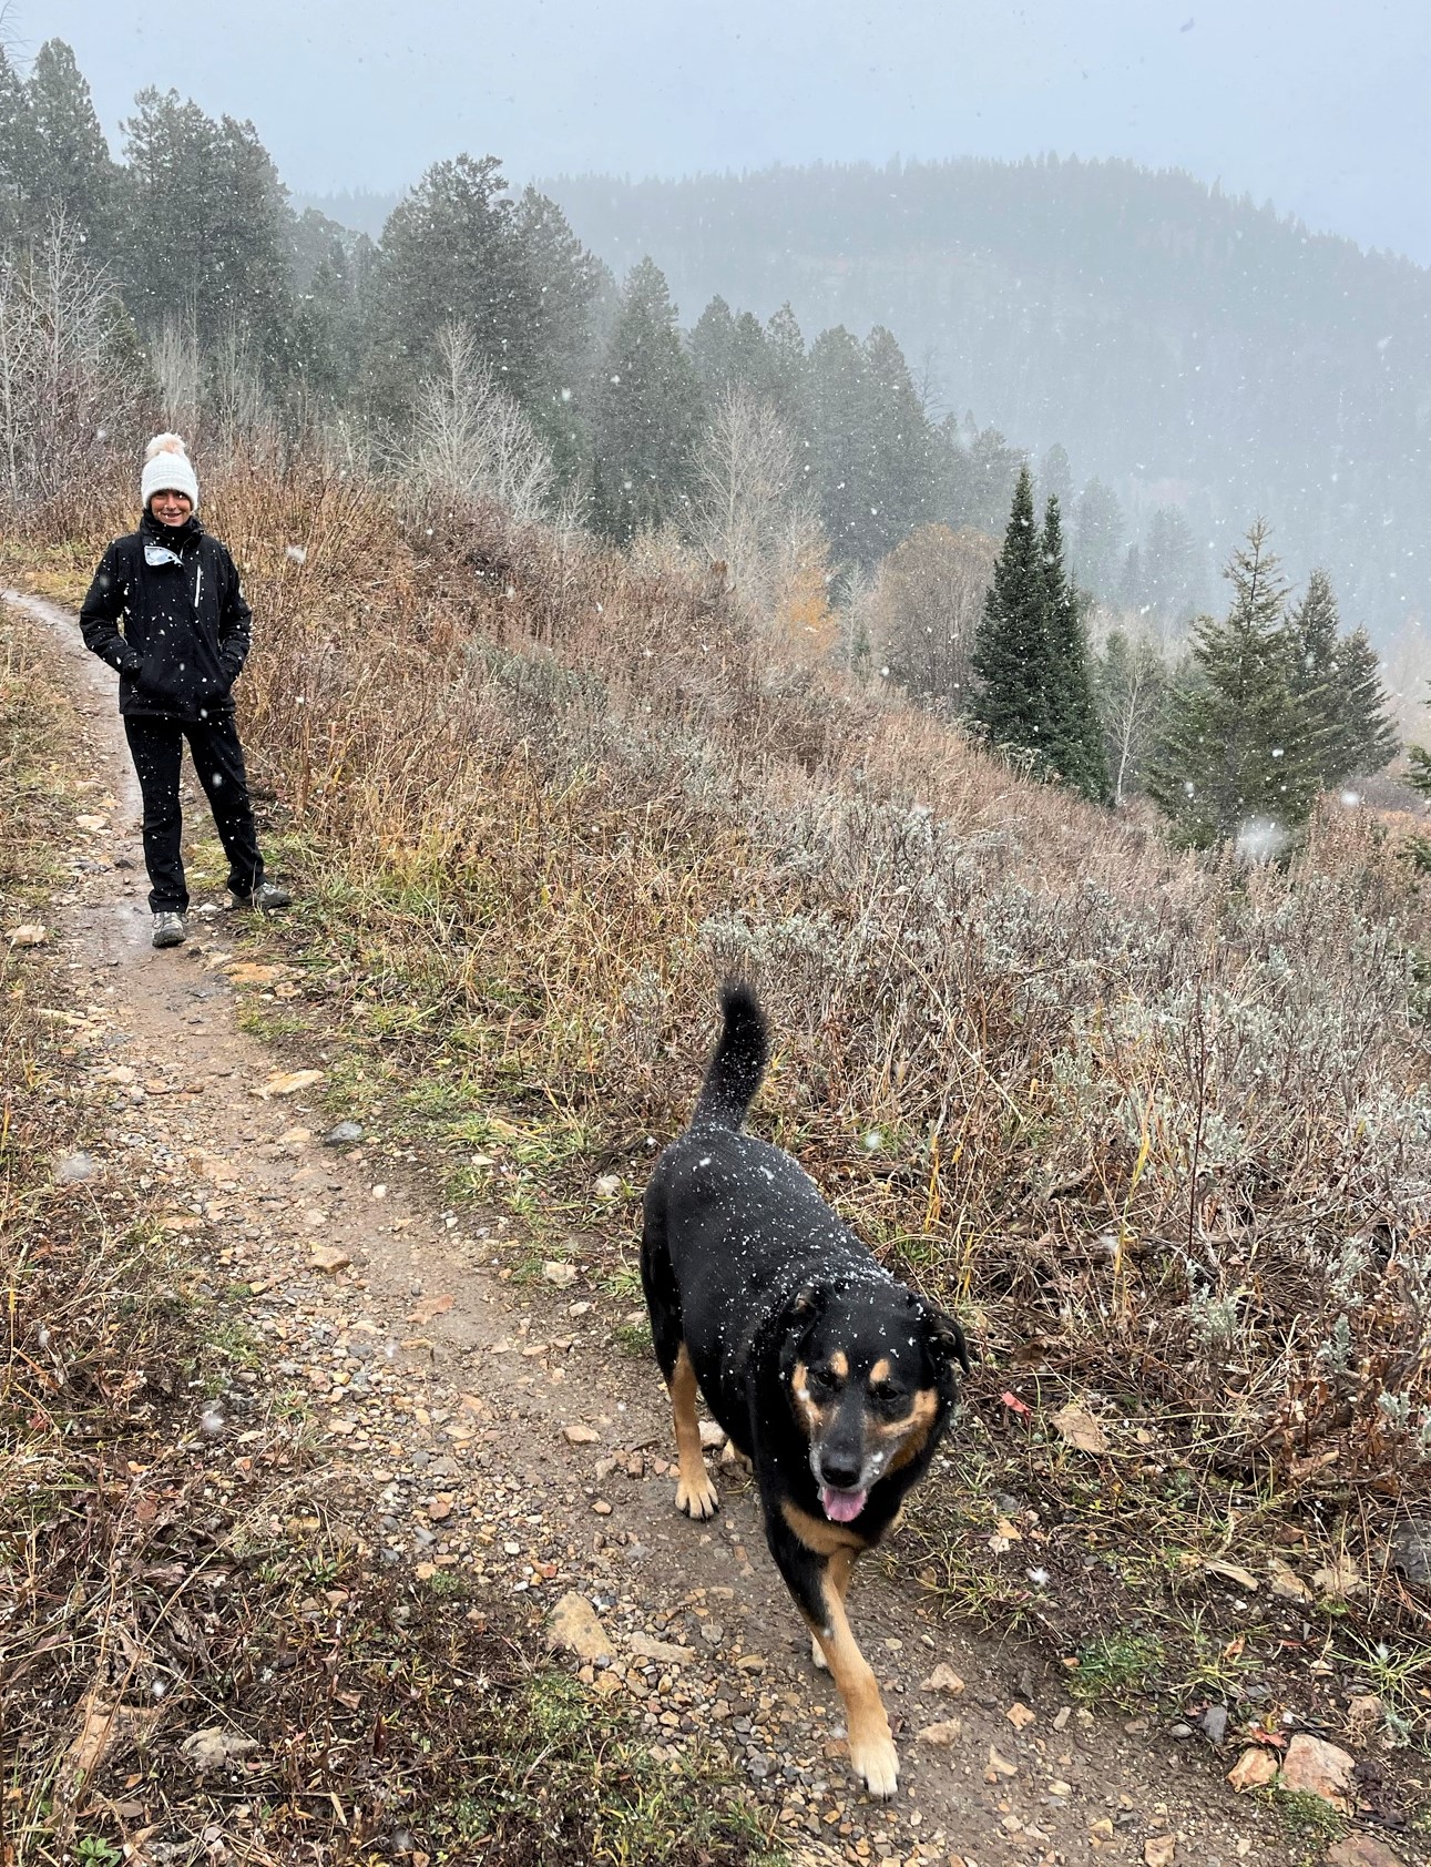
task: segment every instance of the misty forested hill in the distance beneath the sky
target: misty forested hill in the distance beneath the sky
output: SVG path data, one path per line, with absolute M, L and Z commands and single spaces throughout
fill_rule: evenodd
M 804 330 L 888 325 L 942 409 L 1067 448 L 1207 568 L 1256 513 L 1384 640 L 1431 609 L 1431 273 L 1131 162 L 769 168 L 547 183 L 690 325 L 716 293 Z M 1211 583 L 1211 581 L 1209 581 Z

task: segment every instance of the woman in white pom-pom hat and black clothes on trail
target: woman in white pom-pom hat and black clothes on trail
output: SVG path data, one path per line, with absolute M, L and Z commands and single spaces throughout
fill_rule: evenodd
M 119 715 L 144 793 L 153 943 L 179 947 L 188 913 L 179 848 L 185 739 L 224 844 L 235 907 L 287 907 L 293 896 L 263 879 L 233 719 L 250 609 L 233 558 L 196 517 L 198 476 L 177 435 L 155 435 L 144 450 L 140 495 L 140 528 L 104 553 L 80 629 L 84 646 L 119 672 Z

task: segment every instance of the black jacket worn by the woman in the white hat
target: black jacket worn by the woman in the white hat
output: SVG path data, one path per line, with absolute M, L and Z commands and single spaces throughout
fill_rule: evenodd
M 119 622 L 123 620 L 123 633 Z M 233 711 L 250 609 L 233 558 L 198 519 L 116 538 L 80 609 L 84 646 L 119 670 L 119 711 L 205 719 Z

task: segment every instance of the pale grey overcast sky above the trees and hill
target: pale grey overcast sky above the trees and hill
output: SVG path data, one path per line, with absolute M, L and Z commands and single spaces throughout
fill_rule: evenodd
M 144 84 L 252 118 L 287 185 L 438 157 L 679 175 L 1127 155 L 1431 261 L 1431 0 L 11 0 L 101 121 Z

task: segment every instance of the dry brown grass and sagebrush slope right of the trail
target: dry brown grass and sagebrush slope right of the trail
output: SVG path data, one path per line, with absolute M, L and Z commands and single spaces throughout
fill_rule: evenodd
M 1373 821 L 1328 810 L 1285 872 L 1200 864 L 688 571 L 493 512 L 403 526 L 312 461 L 207 485 L 259 616 L 299 1023 L 347 1040 L 354 1094 L 634 1171 L 685 1118 L 716 975 L 756 973 L 761 1120 L 972 1320 L 965 1475 L 1015 1479 L 1041 1566 L 1067 1555 L 1060 1607 L 1030 1550 L 979 1555 L 1000 1611 L 1075 1643 L 1121 1531 L 1123 1607 L 1159 1565 L 1172 1613 L 1203 1555 L 1306 1579 L 1341 1551 L 1308 1652 L 1424 1637 L 1386 1538 L 1431 1501 L 1425 926 Z M 1105 1453 L 1060 1438 L 1069 1400 Z M 952 1581 L 989 1527 L 952 1522 Z

